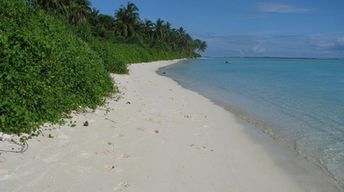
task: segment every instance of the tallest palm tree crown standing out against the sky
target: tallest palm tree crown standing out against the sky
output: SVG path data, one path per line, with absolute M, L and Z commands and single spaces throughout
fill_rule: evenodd
M 124 38 L 135 36 L 136 30 L 139 27 L 139 9 L 137 6 L 128 2 L 127 6 L 123 5 L 115 13 L 115 31 L 116 34 Z

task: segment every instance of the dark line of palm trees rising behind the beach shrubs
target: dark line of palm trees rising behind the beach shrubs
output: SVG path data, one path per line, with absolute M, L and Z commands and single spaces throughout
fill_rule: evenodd
M 173 28 L 162 19 L 155 22 L 141 19 L 138 7 L 132 2 L 114 10 L 114 16 L 92 9 L 88 0 L 29 0 L 29 3 L 66 17 L 84 40 L 90 40 L 92 33 L 94 37 L 113 43 L 177 51 L 188 57 L 198 56 L 196 52 L 204 52 L 207 48 L 205 41 L 193 39 L 182 27 Z

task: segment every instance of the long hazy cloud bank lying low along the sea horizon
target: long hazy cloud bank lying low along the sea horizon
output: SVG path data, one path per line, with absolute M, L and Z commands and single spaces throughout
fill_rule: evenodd
M 210 56 L 344 58 L 343 34 L 198 34 Z

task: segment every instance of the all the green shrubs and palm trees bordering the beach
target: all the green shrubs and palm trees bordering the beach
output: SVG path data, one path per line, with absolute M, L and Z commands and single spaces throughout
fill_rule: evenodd
M 128 63 L 196 57 L 206 43 L 128 3 L 115 16 L 87 0 L 0 1 L 0 131 L 31 133 L 72 110 L 95 108 Z

